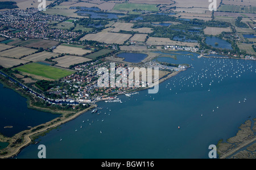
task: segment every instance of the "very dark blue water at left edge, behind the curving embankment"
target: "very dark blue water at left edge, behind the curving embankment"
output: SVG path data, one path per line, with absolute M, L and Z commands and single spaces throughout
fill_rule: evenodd
M 26 98 L 9 88 L 3 88 L 1 83 L 0 94 L 0 133 L 7 137 L 28 129 L 27 126 L 37 126 L 58 117 L 57 114 L 28 109 Z

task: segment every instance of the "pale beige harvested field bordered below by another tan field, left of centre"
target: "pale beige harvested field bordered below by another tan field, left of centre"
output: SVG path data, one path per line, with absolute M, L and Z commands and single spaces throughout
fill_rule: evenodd
M 82 48 L 77 48 L 74 46 L 67 46 L 67 45 L 59 45 L 57 46 L 54 50 L 54 53 L 64 53 L 64 54 L 75 54 L 78 56 L 82 56 L 86 53 L 90 53 L 92 52 L 92 50 L 85 50 Z

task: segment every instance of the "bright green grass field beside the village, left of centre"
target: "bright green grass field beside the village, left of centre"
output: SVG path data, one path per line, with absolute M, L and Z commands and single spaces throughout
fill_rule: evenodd
M 22 71 L 24 73 L 43 76 L 45 78 L 50 79 L 60 79 L 64 76 L 71 75 L 75 72 L 47 65 L 42 65 L 40 63 L 28 63 L 27 65 L 16 67 L 15 70 Z

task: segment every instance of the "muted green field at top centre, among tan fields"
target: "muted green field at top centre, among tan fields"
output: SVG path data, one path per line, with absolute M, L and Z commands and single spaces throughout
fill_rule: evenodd
M 113 10 L 123 10 L 123 11 L 133 11 L 133 10 L 143 10 L 143 11 L 158 11 L 158 7 L 152 4 L 142 4 L 142 3 L 116 3 Z

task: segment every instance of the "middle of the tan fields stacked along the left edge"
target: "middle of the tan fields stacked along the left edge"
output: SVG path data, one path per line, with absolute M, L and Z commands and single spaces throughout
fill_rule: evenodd
M 37 51 L 36 49 L 17 46 L 15 48 L 7 49 L 7 50 L 0 52 L 0 56 L 11 57 L 11 58 L 20 58 L 20 57 L 35 53 L 36 51 Z

